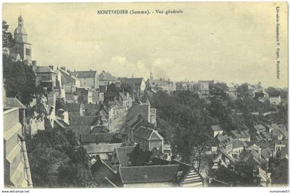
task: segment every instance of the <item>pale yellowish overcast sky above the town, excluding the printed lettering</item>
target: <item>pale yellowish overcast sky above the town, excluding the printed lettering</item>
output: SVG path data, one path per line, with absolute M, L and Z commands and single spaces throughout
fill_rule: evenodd
M 287 5 L 287 4 L 286 4 Z M 275 3 L 3 4 L 11 32 L 21 12 L 38 65 L 114 76 L 218 80 L 287 87 L 287 9 Z M 276 6 L 281 69 L 276 78 Z M 175 15 L 97 15 L 97 10 L 183 10 Z

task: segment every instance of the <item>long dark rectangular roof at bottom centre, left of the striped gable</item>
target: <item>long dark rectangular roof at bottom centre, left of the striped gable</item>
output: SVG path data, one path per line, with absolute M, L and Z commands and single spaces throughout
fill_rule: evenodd
M 179 165 L 119 167 L 122 183 L 161 183 L 175 181 Z

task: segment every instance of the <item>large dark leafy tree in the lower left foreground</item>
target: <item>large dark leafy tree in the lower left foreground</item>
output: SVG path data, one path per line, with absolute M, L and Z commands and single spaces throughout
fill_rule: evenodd
M 98 187 L 91 174 L 89 156 L 71 131 L 38 131 L 28 137 L 30 171 L 35 187 Z

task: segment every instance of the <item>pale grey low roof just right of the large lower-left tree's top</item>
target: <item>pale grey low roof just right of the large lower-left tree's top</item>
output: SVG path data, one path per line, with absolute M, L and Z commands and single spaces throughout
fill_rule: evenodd
M 121 146 L 122 143 L 117 144 L 89 144 L 85 145 L 84 148 L 87 150 L 87 153 L 112 153 L 115 147 Z

